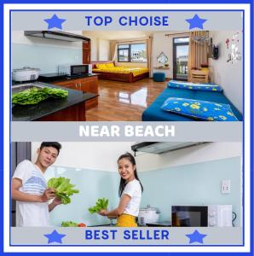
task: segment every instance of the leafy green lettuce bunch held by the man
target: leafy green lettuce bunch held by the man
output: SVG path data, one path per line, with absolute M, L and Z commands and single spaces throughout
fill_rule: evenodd
M 55 196 L 61 199 L 61 203 L 66 205 L 71 202 L 70 196 L 78 193 L 78 189 L 73 189 L 75 185 L 70 183 L 70 179 L 66 177 L 52 177 L 48 181 L 48 187 L 55 189 Z

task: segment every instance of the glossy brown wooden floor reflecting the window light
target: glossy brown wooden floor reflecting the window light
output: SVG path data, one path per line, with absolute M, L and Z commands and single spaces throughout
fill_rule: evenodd
M 165 86 L 166 82 L 153 82 L 153 79 L 135 83 L 99 79 L 99 104 L 86 111 L 86 120 L 141 121 L 142 112 Z

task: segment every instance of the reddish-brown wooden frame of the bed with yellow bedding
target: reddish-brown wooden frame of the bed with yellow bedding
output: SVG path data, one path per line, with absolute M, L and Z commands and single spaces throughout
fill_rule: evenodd
M 113 61 L 91 61 L 93 73 L 99 74 L 99 79 L 107 79 L 107 80 L 115 80 L 115 81 L 122 81 L 127 83 L 133 83 L 140 79 L 145 79 L 149 77 L 149 70 L 143 69 L 140 73 L 132 73 L 131 70 L 125 71 L 125 73 L 120 73 L 119 70 L 117 70 L 118 73 L 114 73 L 113 70 L 110 72 L 107 70 L 100 70 L 96 67 L 97 64 L 108 64 L 108 63 L 114 63 Z M 134 68 L 139 69 L 139 68 Z

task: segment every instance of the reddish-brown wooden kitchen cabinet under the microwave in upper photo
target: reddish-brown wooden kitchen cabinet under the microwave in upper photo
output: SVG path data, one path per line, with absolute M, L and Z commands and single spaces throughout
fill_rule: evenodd
M 69 79 L 61 82 L 54 82 L 55 85 L 64 86 L 69 89 L 81 90 L 83 93 L 91 92 L 98 94 L 98 77 L 90 76 L 82 79 Z M 98 97 L 85 102 L 85 109 L 94 108 L 98 105 Z

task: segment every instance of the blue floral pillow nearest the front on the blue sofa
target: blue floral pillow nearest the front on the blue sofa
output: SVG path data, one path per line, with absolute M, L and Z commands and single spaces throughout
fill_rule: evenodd
M 161 108 L 204 121 L 238 121 L 228 104 L 170 97 Z

